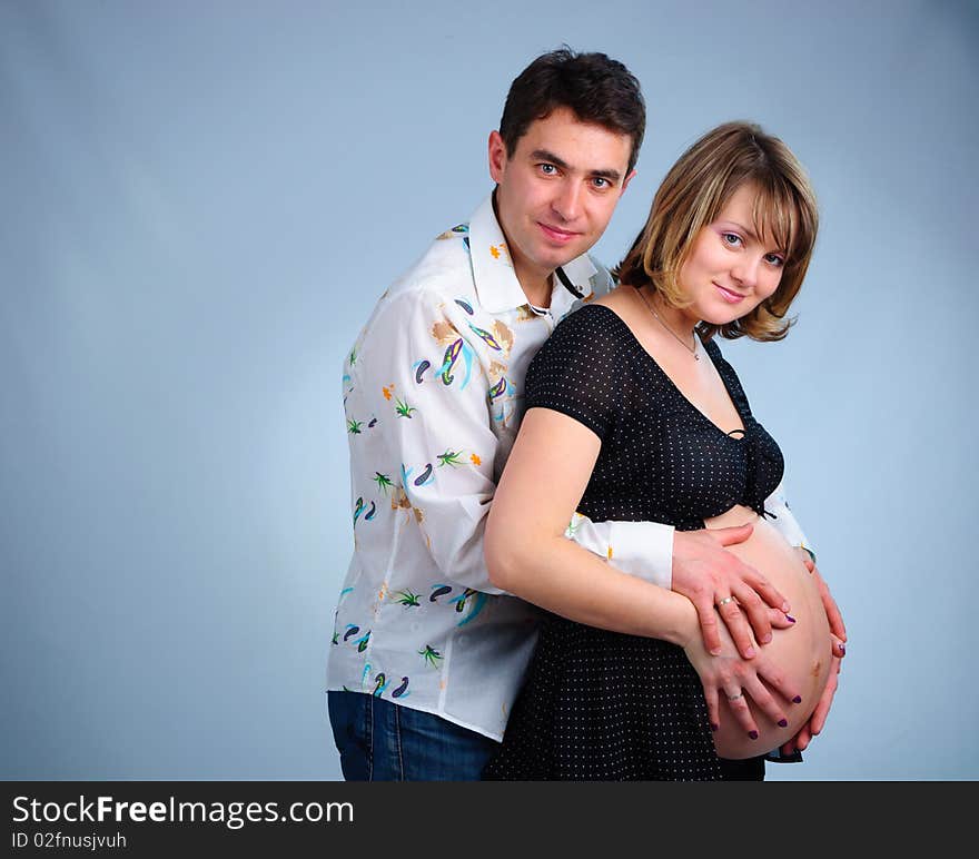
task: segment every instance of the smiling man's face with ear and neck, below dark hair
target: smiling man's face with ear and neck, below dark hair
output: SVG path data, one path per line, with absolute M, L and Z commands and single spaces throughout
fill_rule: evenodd
M 580 121 L 567 108 L 531 124 L 513 157 L 490 135 L 496 209 L 524 289 L 591 248 L 635 175 L 626 175 L 632 138 Z

